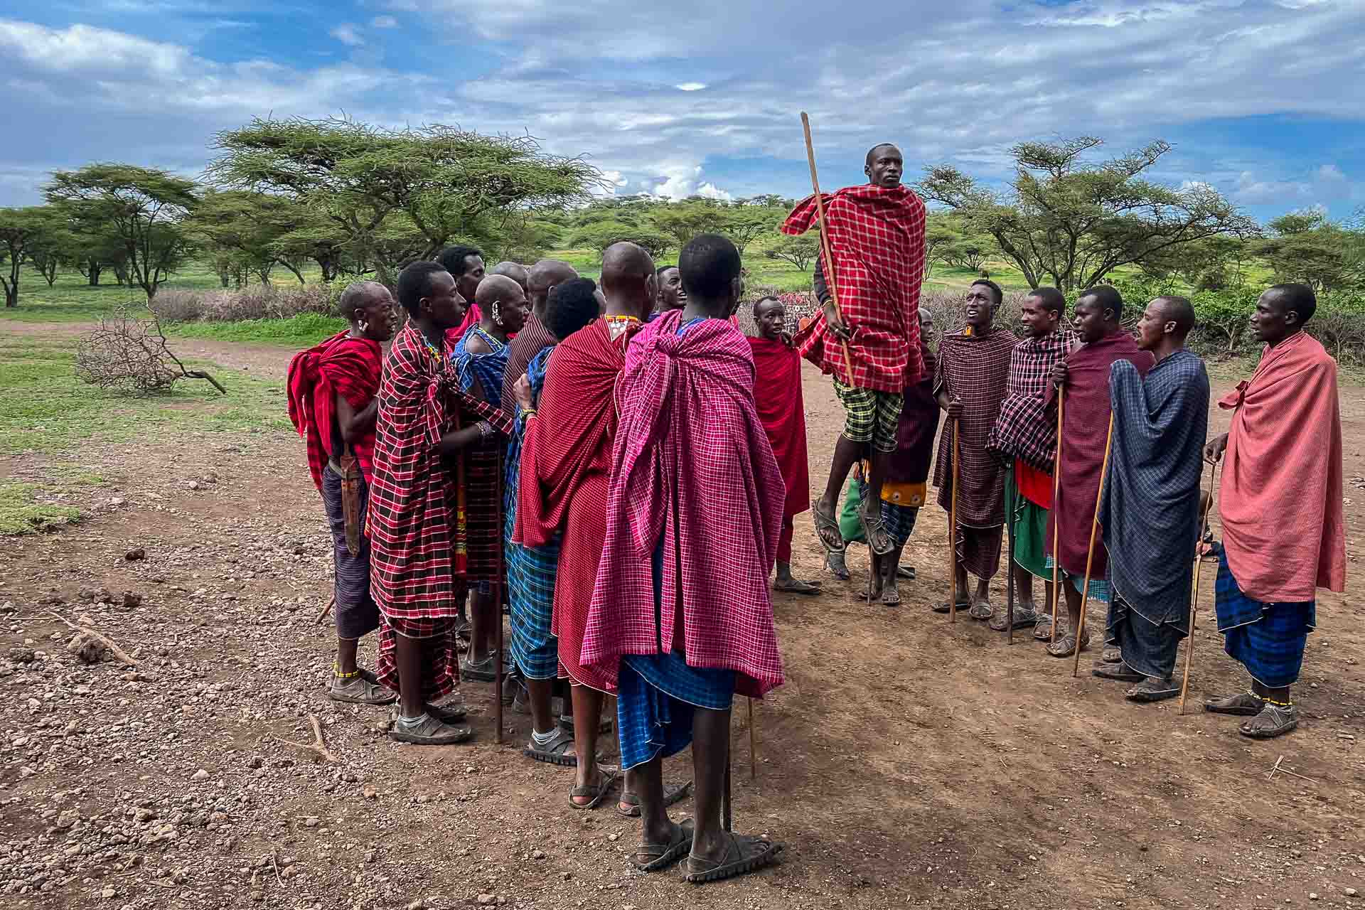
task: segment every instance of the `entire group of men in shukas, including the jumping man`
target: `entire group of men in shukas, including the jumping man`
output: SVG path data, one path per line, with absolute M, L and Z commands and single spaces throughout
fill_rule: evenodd
M 349 287 L 349 327 L 289 366 L 289 413 L 334 539 L 330 697 L 393 704 L 403 742 L 467 739 L 449 696 L 461 677 L 498 675 L 505 591 L 524 679 L 515 699 L 532 718 L 526 753 L 576 769 L 569 805 L 592 809 L 618 783 L 597 746 L 613 694 L 617 810 L 643 820 L 632 861 L 657 870 L 687 855 L 693 881 L 770 862 L 781 845 L 723 831 L 719 806 L 733 697 L 784 678 L 770 572 L 778 591 L 822 591 L 790 572 L 792 518 L 808 502 L 804 356 L 833 374 L 846 412 L 809 502 L 835 574 L 846 577 L 842 553 L 859 536 L 874 555 L 871 598 L 900 603 L 943 415 L 934 483 L 956 517 L 956 596 L 934 608 L 996 630 L 1013 617 L 1067 656 L 1089 643 L 1085 599 L 1107 600 L 1095 673 L 1136 684 L 1134 700 L 1178 692 L 1200 456 L 1224 458 L 1219 629 L 1252 689 L 1207 708 L 1254 715 L 1246 735 L 1293 729 L 1313 591 L 1340 591 L 1345 576 L 1335 363 L 1302 332 L 1312 292 L 1263 295 L 1261 366 L 1222 401 L 1231 431 L 1204 452 L 1209 385 L 1183 347 L 1194 314 L 1181 297 L 1152 300 L 1134 340 L 1114 288 L 1082 292 L 1072 319 L 1059 291 L 1037 288 L 1020 341 L 995 325 L 1003 293 L 981 278 L 964 327 L 935 351 L 919 308 L 924 205 L 902 166 L 879 145 L 867 184 L 812 196 L 782 225 L 803 233 L 823 220 L 827 244 L 822 310 L 794 337 L 771 297 L 755 304 L 758 337 L 738 330 L 740 255 L 717 235 L 658 269 L 639 246 L 614 244 L 601 284 L 556 261 L 485 273 L 478 250 L 452 247 L 403 269 L 401 329 L 388 288 Z M 854 469 L 850 533 L 837 509 Z M 1006 538 L 1013 611 L 990 588 Z M 1055 622 L 1052 578 L 1066 602 Z M 356 643 L 374 630 L 370 673 Z M 666 786 L 661 759 L 688 744 L 695 823 L 676 824 L 666 808 L 692 784 Z

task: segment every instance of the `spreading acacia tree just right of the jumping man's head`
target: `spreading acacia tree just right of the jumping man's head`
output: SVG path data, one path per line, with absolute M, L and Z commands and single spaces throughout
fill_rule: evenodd
M 1014 179 L 1003 194 L 949 165 L 931 168 L 916 190 L 961 214 L 968 229 L 990 235 L 1033 288 L 1044 278 L 1062 291 L 1089 288 L 1170 247 L 1256 233 L 1256 222 L 1207 184 L 1171 190 L 1141 177 L 1170 143 L 1085 162 L 1100 145 L 1081 136 L 1014 146 Z

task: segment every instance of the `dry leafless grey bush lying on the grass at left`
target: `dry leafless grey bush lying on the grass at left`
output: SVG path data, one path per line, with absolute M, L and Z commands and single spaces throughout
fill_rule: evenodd
M 100 389 L 117 392 L 164 392 L 176 379 L 207 379 L 213 387 L 227 394 L 218 382 L 202 370 L 186 370 L 180 359 L 167 347 L 161 323 L 139 319 L 136 304 L 124 304 L 100 321 L 90 334 L 76 345 L 76 378 Z

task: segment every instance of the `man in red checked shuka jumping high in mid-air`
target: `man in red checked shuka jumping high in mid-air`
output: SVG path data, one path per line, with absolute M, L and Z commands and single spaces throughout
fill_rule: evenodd
M 900 149 L 875 146 L 863 168 L 868 183 L 824 198 L 824 232 L 834 262 L 824 262 L 823 252 L 816 262 L 815 293 L 823 310 L 793 338 L 801 356 L 834 374 L 834 393 L 846 412 L 824 494 L 811 503 L 815 531 L 829 553 L 844 550 L 837 508 L 844 482 L 861 458 L 871 461 L 870 495 L 860 512 L 863 533 L 876 555 L 893 547 L 882 524 L 882 483 L 895 452 L 901 393 L 924 368 L 919 319 L 924 203 L 901 186 L 902 166 Z M 811 196 L 788 216 L 782 233 L 805 233 L 816 218 Z

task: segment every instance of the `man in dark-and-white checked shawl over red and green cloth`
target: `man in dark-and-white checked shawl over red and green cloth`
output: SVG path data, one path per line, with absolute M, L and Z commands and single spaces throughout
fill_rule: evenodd
M 1020 308 L 1024 340 L 1010 355 L 1005 401 L 986 447 L 1009 465 L 1005 475 L 1006 528 L 1011 535 L 1014 628 L 1033 626 L 1041 641 L 1052 636 L 1051 573 L 1047 569 L 1047 516 L 1052 509 L 1052 471 L 1057 461 L 1057 420 L 1047 416 L 1044 401 L 1052 367 L 1080 341 L 1066 325 L 1066 297 L 1057 288 L 1035 288 Z M 1046 599 L 1033 602 L 1033 578 L 1043 578 Z M 1009 614 L 991 619 L 991 629 L 1006 632 Z

